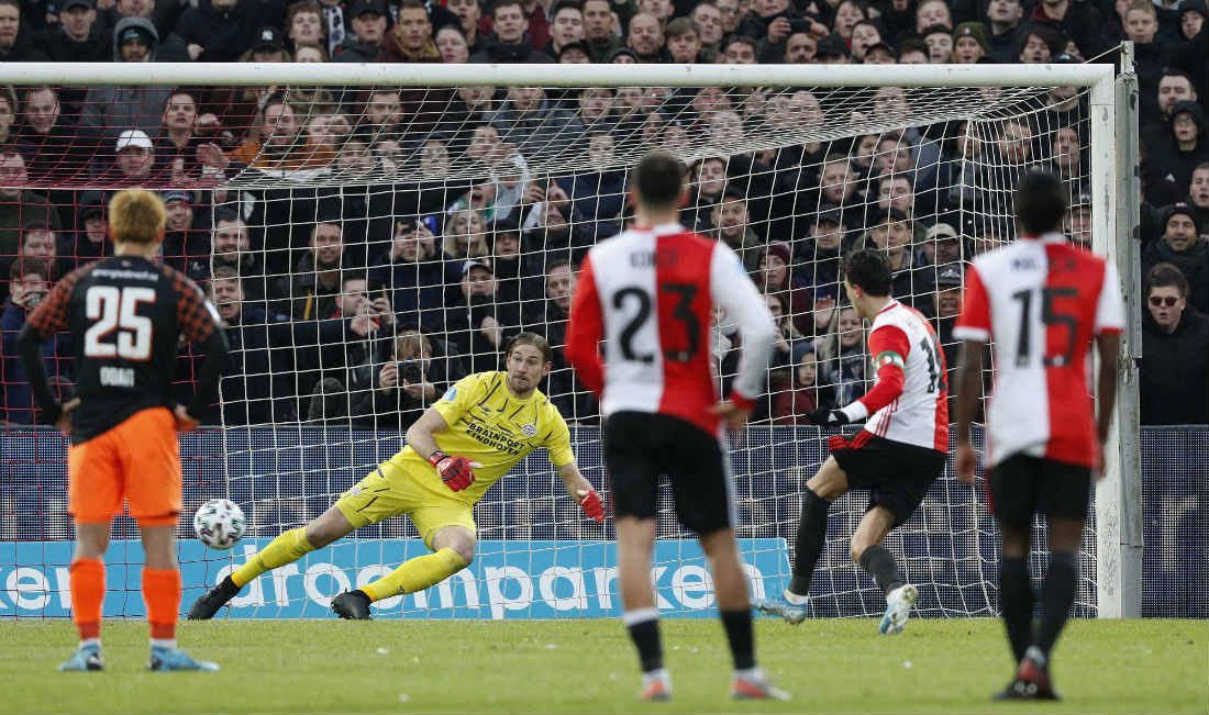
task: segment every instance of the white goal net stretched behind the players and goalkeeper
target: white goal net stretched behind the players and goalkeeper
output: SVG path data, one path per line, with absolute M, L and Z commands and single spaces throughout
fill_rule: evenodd
M 98 219 L 115 190 L 163 191 L 163 260 L 206 286 L 232 349 L 209 426 L 183 436 L 184 515 L 229 498 L 248 517 L 231 552 L 201 547 L 181 519 L 185 609 L 401 449 L 406 428 L 461 377 L 499 370 L 499 348 L 522 330 L 554 347 L 542 389 L 608 501 L 598 406 L 562 345 L 577 266 L 629 223 L 629 173 L 652 149 L 684 161 L 682 222 L 739 251 L 780 326 L 768 393 L 730 437 L 735 529 L 756 595 L 787 583 L 800 495 L 827 457 L 828 432 L 805 414 L 872 386 L 868 326 L 840 286 L 845 252 L 887 251 L 895 296 L 933 322 L 951 372 L 964 266 L 1016 239 L 1011 194 L 1026 169 L 1049 167 L 1069 187 L 1071 240 L 1091 248 L 1095 236 L 1098 252 L 1115 246 L 1112 75 L 1103 65 L 134 69 L 4 72 L 22 82 L 21 106 L 53 99 L 59 107 L 48 133 L 31 127 L 0 164 L 0 184 L 12 187 L 0 202 L 21 216 L 17 240 L 4 244 L 4 278 L 19 265 L 10 292 L 41 290 L 24 268 L 40 256 L 30 249 L 40 229 L 53 237 L 41 249 L 53 263 L 42 280 L 54 280 L 111 249 Z M 7 419 L 27 426 L 4 441 L 0 617 L 65 616 L 65 444 L 35 429 L 19 402 L 13 337 L 5 332 Z M 708 349 L 725 393 L 742 345 L 724 314 Z M 47 348 L 50 373 L 69 393 L 71 368 L 57 350 Z M 183 347 L 183 394 L 197 360 Z M 526 425 L 516 426 L 520 438 Z M 814 616 L 884 610 L 848 552 L 866 504 L 858 492 L 831 511 Z M 620 612 L 613 525 L 584 517 L 544 450 L 474 515 L 475 563 L 428 592 L 375 604 L 376 617 Z M 1098 614 L 1105 587 L 1095 522 L 1081 557 L 1084 616 Z M 705 562 L 666 487 L 658 535 L 660 609 L 708 614 Z M 111 572 L 129 574 L 110 577 L 106 616 L 141 614 L 134 539 L 133 522 L 120 518 L 108 560 Z M 978 616 L 997 612 L 997 539 L 982 482 L 958 483 L 950 464 L 886 545 L 920 586 L 922 615 Z M 264 576 L 229 612 L 320 617 L 340 591 L 423 552 L 415 527 L 392 518 Z M 1031 565 L 1043 571 L 1039 558 Z

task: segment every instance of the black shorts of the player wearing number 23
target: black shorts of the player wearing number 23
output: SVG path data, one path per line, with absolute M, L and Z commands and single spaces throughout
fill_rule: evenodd
M 677 417 L 618 412 L 604 420 L 609 502 L 617 517 L 655 517 L 659 476 L 667 475 L 686 529 L 730 525 L 729 460 L 718 437 Z

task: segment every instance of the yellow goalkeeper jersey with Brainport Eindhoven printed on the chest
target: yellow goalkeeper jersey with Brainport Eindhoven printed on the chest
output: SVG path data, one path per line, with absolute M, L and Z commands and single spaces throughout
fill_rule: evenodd
M 404 447 L 391 463 L 438 494 L 474 504 L 538 447 L 545 447 L 555 466 L 574 461 L 571 430 L 559 408 L 540 390 L 533 390 L 526 400 L 517 399 L 507 379 L 505 372 L 467 376 L 433 405 L 450 425 L 433 435 L 438 449 L 482 465 L 474 470 L 474 483 L 468 488 L 451 492 L 436 469 L 411 447 Z

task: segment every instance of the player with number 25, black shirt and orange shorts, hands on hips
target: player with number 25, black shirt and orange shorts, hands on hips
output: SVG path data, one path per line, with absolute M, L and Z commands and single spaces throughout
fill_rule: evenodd
M 167 213 L 160 197 L 138 188 L 109 202 L 114 256 L 60 280 L 29 316 L 17 342 L 42 419 L 71 435 L 68 508 L 76 525 L 71 559 L 71 617 L 80 649 L 59 670 L 102 670 L 100 615 L 105 548 L 122 500 L 139 522 L 146 563 L 143 599 L 151 622 L 151 670 L 218 670 L 177 647 L 180 571 L 180 447 L 177 429 L 218 396 L 227 344 L 201 289 L 156 262 Z M 71 335 L 79 397 L 59 405 L 42 365 L 42 341 Z M 206 353 L 197 394 L 186 409 L 172 399 L 178 336 Z

